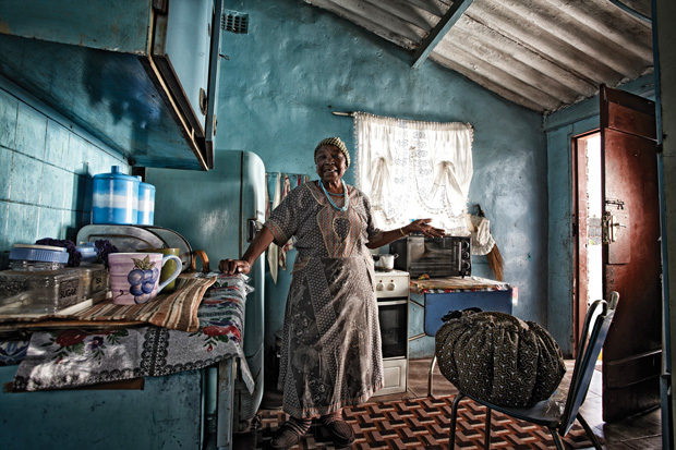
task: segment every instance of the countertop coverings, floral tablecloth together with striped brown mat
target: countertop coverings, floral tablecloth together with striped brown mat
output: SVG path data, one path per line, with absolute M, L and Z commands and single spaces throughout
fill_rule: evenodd
M 174 293 L 144 305 L 104 302 L 65 323 L 49 318 L 8 325 L 39 329 L 33 330 L 14 388 L 81 387 L 167 375 L 239 357 L 244 380 L 253 390 L 241 348 L 245 282 L 241 277 L 212 275 L 182 278 Z

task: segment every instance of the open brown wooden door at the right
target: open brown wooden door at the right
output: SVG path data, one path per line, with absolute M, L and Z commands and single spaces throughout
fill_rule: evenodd
M 601 87 L 604 293 L 619 305 L 603 348 L 603 419 L 660 404 L 662 266 L 654 102 Z

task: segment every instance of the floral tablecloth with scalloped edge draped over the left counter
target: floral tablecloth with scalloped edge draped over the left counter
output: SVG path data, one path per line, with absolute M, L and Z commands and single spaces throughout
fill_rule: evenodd
M 14 390 L 63 389 L 168 375 L 239 357 L 242 378 L 253 392 L 254 381 L 241 346 L 246 294 L 253 288 L 241 275 L 201 276 L 216 277 L 216 281 L 197 309 L 196 331 L 143 326 L 34 332 L 14 377 Z

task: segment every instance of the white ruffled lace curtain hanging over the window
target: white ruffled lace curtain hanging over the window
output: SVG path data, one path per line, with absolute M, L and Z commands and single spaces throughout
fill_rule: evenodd
M 472 181 L 472 126 L 354 113 L 357 186 L 376 224 L 432 218 L 447 233 L 469 235 L 464 215 Z

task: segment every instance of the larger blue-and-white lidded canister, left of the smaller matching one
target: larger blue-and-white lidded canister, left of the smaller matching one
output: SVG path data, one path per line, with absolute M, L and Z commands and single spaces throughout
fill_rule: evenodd
M 92 223 L 136 224 L 138 179 L 113 166 L 111 173 L 94 175 Z

